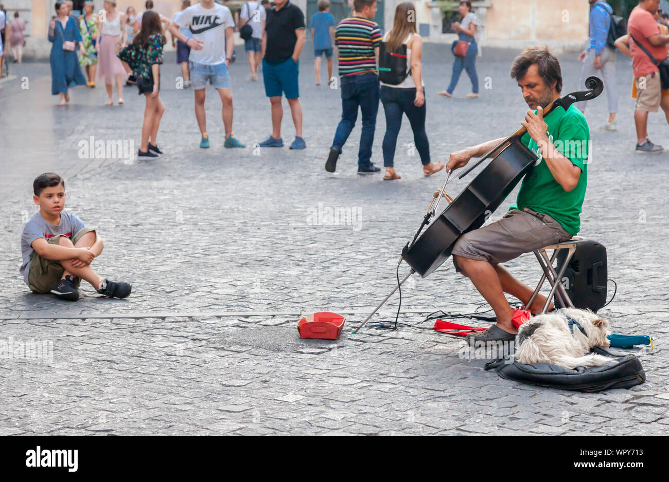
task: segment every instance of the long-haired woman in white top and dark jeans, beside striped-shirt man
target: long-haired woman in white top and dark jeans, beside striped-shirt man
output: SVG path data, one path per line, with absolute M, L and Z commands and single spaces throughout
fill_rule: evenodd
M 391 31 L 383 36 L 387 52 L 397 52 L 402 45 L 407 46 L 407 68 L 409 75 L 399 84 L 381 82 L 381 102 L 385 111 L 385 136 L 383 136 L 384 180 L 400 179 L 395 172 L 393 159 L 397 146 L 397 135 L 402 124 L 402 115 L 406 114 L 413 130 L 413 142 L 423 164 L 423 174 L 432 176 L 444 169 L 443 162 L 431 162 L 429 142 L 425 132 L 425 94 L 421 69 L 423 39 L 417 34 L 415 7 L 407 1 L 395 8 L 395 21 Z M 419 87 L 416 87 L 416 86 Z

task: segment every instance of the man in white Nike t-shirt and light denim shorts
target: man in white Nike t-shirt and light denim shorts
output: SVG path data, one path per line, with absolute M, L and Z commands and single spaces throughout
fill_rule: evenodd
M 173 37 L 191 47 L 188 59 L 191 68 L 191 85 L 195 93 L 195 117 L 197 117 L 197 125 L 202 133 L 201 148 L 209 148 L 205 115 L 207 81 L 217 89 L 223 103 L 223 126 L 225 127 L 223 146 L 226 148 L 246 147 L 232 134 L 232 89 L 227 67 L 232 61 L 234 25 L 230 9 L 214 3 L 213 0 L 201 0 L 196 5 L 178 11 L 169 25 L 169 31 Z M 192 38 L 179 31 L 181 27 L 186 27 Z

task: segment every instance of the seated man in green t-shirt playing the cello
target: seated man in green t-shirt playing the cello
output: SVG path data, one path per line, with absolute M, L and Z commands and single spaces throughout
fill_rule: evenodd
M 590 132 L 585 116 L 570 105 L 566 111 L 558 106 L 543 118 L 543 109 L 558 99 L 562 90 L 557 58 L 545 47 L 527 47 L 514 59 L 511 77 L 518 81 L 530 107 L 520 123 L 527 128 L 521 141 L 538 160 L 522 180 L 516 206 L 502 219 L 460 236 L 452 250 L 456 271 L 472 280 L 497 317 L 497 323 L 487 330 L 468 335 L 474 341 L 514 339 L 518 332 L 511 323 L 514 310 L 504 293 L 527 304 L 533 289 L 514 278 L 501 263 L 577 234 L 587 184 Z M 446 170 L 462 168 L 502 140 L 452 153 Z M 546 297 L 539 294 L 528 309 L 538 314 L 545 302 Z

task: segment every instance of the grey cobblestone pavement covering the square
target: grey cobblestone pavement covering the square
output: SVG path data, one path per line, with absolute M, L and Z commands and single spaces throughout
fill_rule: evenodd
M 452 57 L 443 45 L 426 50 L 434 159 L 517 128 L 527 108 L 508 78 L 517 52 L 486 49 L 477 68 L 490 88 L 468 100 L 466 76 L 457 98 L 436 95 Z M 0 434 L 662 433 L 669 425 L 669 154 L 633 152 L 627 59 L 617 62 L 619 131 L 597 130 L 605 95 L 587 110 L 594 155 L 581 234 L 608 250 L 617 294 L 601 312 L 613 331 L 658 340 L 654 350 L 640 352 L 646 384 L 581 394 L 500 379 L 482 369 L 486 360 L 458 356 L 464 342 L 427 322 L 351 334 L 395 284 L 401 247 L 444 178 L 423 178 L 417 156 L 409 155 L 407 122 L 395 162 L 399 182 L 355 174 L 359 126 L 338 173 L 324 172 L 339 91 L 314 86 L 308 47 L 300 72 L 308 147 L 254 149 L 270 134 L 270 109 L 262 83 L 245 80 L 241 53 L 231 68 L 234 130 L 248 147 L 223 148 L 220 101 L 211 90 L 211 149 L 197 147 L 193 94 L 175 88 L 177 66 L 168 54 L 159 134 L 168 154 L 154 162 L 78 155 L 90 136 L 138 144 L 143 99 L 134 89 L 126 88 L 125 105 L 104 107 L 103 89 L 80 87 L 72 105 L 59 108 L 49 95 L 47 64 L 13 66 L 17 79 L 0 91 L 0 339 L 15 346 L 37 340 L 51 349 L 42 358 L 0 363 Z M 573 54 L 561 62 L 564 92 L 571 91 L 579 63 Z M 284 142 L 291 142 L 285 101 L 284 115 Z M 373 153 L 379 165 L 383 132 L 381 108 Z M 669 145 L 666 132 L 662 115 L 651 114 L 652 140 Z M 30 183 L 45 170 L 66 177 L 66 209 L 97 226 L 105 242 L 96 269 L 132 282 L 130 298 L 103 299 L 86 286 L 78 302 L 66 304 L 31 294 L 21 281 L 19 235 L 35 210 Z M 332 224 L 334 210 L 350 217 Z M 539 278 L 531 255 L 508 267 L 530 284 Z M 400 320 L 417 324 L 438 309 L 470 312 L 482 301 L 447 262 L 424 280 L 407 281 Z M 391 320 L 396 308 L 392 298 L 379 319 Z M 299 314 L 318 310 L 347 315 L 336 342 L 298 338 Z

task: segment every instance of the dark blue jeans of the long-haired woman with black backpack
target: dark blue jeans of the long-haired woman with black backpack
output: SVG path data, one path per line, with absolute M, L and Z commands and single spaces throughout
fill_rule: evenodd
M 397 146 L 397 134 L 402 125 L 402 114 L 407 115 L 411 130 L 413 131 L 413 142 L 423 166 L 429 164 L 429 142 L 425 132 L 425 103 L 420 107 L 413 104 L 416 89 L 398 89 L 395 87 L 381 86 L 381 102 L 385 111 L 385 136 L 383 136 L 383 166 L 393 167 L 395 158 L 395 146 Z

